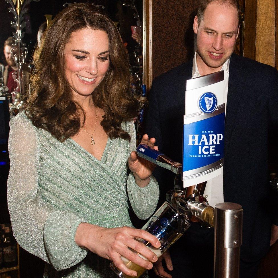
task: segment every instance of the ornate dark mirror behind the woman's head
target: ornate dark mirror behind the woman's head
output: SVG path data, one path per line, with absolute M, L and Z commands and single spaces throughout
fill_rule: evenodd
M 6 84 L 7 66 L 15 61 L 17 73 L 13 74 L 15 86 L 13 88 L 13 101 L 19 105 L 22 96 L 28 94 L 26 79 L 28 71 L 32 70 L 32 53 L 40 38 L 38 31 L 43 29 L 67 5 L 72 3 L 89 3 L 102 9 L 114 22 L 122 37 L 130 60 L 131 83 L 138 88 L 142 84 L 143 58 L 142 58 L 142 21 L 143 0 L 0 0 L 0 93 L 7 92 Z M 13 37 L 14 44 L 7 48 L 11 52 L 11 60 L 3 51 L 4 42 Z M 29 66 L 29 67 L 28 67 Z M 21 77 L 21 78 L 18 78 Z M 140 93 L 140 90 L 134 90 Z

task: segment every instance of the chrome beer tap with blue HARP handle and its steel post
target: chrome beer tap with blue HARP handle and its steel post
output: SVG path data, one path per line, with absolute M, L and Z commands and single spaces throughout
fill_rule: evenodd
M 139 145 L 138 156 L 176 174 L 174 190 L 166 193 L 167 201 L 191 222 L 214 227 L 214 278 L 238 278 L 240 246 L 242 244 L 242 207 L 235 203 L 220 203 L 215 209 L 203 196 L 205 183 L 183 188 L 181 163 L 147 145 Z M 272 180 L 278 190 L 278 179 Z M 214 217 L 215 216 L 215 217 Z

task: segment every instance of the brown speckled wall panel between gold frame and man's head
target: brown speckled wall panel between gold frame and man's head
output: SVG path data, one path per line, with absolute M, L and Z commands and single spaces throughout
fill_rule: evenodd
M 155 0 L 153 9 L 153 78 L 193 55 L 193 19 L 199 0 Z

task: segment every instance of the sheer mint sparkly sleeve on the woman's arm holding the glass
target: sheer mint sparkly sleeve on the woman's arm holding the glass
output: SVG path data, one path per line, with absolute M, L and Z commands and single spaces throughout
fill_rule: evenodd
M 23 115 L 10 122 L 8 206 L 19 245 L 57 270 L 79 263 L 87 251 L 75 244 L 82 219 L 44 202 L 38 186 L 39 144 L 35 127 Z

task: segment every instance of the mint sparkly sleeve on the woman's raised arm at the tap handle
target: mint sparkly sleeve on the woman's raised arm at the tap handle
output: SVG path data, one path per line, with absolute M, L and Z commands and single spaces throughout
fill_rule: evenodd
M 130 152 L 136 150 L 136 134 L 134 123 L 130 123 Z M 159 198 L 159 187 L 156 179 L 151 175 L 150 183 L 145 187 L 139 187 L 130 172 L 126 182 L 130 204 L 140 219 L 149 218 L 155 211 Z

